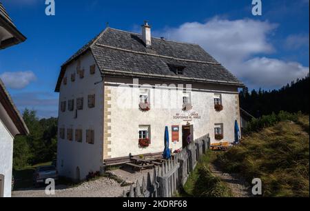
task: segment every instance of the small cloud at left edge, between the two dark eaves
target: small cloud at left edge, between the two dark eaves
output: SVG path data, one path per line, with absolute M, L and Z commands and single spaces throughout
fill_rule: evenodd
M 12 89 L 23 89 L 28 86 L 37 77 L 32 71 L 25 72 L 3 72 L 0 74 L 3 83 Z

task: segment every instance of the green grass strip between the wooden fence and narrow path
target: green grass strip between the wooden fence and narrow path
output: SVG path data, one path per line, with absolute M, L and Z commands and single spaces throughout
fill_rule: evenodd
M 227 185 L 209 170 L 209 163 L 216 159 L 214 152 L 207 152 L 190 174 L 178 197 L 231 197 Z

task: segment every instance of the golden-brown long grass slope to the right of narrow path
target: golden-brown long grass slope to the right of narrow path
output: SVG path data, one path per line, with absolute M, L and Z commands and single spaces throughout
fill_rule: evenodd
M 264 197 L 309 197 L 309 116 L 251 133 L 217 161 L 249 183 L 262 179 Z

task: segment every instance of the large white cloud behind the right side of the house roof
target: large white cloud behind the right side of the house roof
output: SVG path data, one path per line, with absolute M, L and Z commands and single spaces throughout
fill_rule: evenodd
M 307 75 L 309 67 L 258 57 L 276 51 L 269 41 L 276 28 L 277 24 L 268 21 L 230 21 L 216 17 L 205 23 L 184 23 L 178 28 L 166 28 L 156 34 L 164 34 L 167 39 L 198 43 L 250 88 L 279 88 Z

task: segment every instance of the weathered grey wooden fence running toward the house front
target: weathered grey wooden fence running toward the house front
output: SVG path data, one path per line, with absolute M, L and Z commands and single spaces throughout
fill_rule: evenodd
M 210 147 L 209 134 L 196 139 L 171 159 L 154 168 L 151 174 L 143 177 L 142 183 L 130 186 L 123 197 L 173 197 L 195 169 L 199 159 Z

